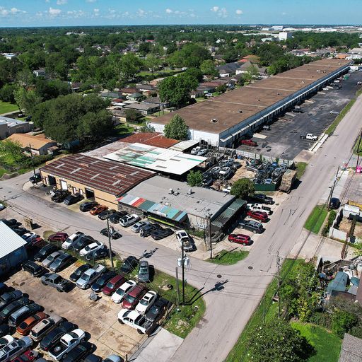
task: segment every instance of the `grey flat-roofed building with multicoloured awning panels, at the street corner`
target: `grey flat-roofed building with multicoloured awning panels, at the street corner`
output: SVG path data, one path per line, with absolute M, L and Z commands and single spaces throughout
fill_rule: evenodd
M 205 229 L 213 221 L 227 223 L 230 218 L 238 217 L 240 208 L 245 204 L 238 202 L 240 207 L 234 212 L 230 209 L 235 196 L 204 187 L 190 188 L 185 182 L 166 177 L 155 176 L 140 182 L 119 197 L 119 209 L 146 216 L 170 226 Z M 233 208 L 231 206 L 231 208 Z M 218 225 L 218 223 L 217 223 Z M 221 229 L 220 226 L 218 229 Z

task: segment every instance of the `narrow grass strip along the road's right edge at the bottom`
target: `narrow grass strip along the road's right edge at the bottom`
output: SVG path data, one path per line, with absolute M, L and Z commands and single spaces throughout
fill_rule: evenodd
M 296 267 L 298 264 L 303 263 L 303 259 L 286 259 L 281 267 L 280 275 L 281 279 L 284 279 L 286 274 Z M 264 293 L 263 299 L 260 301 L 258 307 L 255 309 L 252 317 L 250 317 L 249 322 L 245 325 L 243 332 L 241 332 L 238 341 L 236 342 L 233 349 L 228 354 L 225 362 L 240 362 L 243 357 L 243 361 L 251 361 L 247 358 L 247 350 L 249 349 L 249 341 L 254 338 L 255 330 L 259 325 L 262 325 L 264 320 L 265 313 L 265 321 L 272 320 L 274 317 L 278 315 L 278 303 L 274 303 L 272 298 L 276 293 L 276 288 L 278 286 L 277 279 L 273 279 L 271 284 L 269 284 L 267 291 Z M 265 303 L 264 303 L 265 302 Z M 267 361 L 265 361 L 267 362 Z

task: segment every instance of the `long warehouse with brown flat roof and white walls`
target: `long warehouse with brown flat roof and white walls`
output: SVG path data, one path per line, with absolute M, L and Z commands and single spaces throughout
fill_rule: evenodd
M 236 146 L 240 137 L 278 117 L 349 70 L 350 62 L 322 59 L 272 76 L 151 121 L 156 132 L 177 113 L 189 126 L 189 138 L 214 146 Z

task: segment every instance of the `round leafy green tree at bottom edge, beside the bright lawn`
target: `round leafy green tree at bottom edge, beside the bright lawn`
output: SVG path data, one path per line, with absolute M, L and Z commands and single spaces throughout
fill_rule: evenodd
M 270 320 L 252 337 L 249 360 L 255 362 L 300 362 L 314 354 L 308 340 L 285 320 Z

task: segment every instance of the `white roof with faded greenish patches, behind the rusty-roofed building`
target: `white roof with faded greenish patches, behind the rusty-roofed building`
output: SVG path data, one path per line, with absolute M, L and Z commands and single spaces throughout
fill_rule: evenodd
M 187 173 L 206 160 L 205 157 L 138 143 L 109 153 L 104 158 L 172 175 Z

